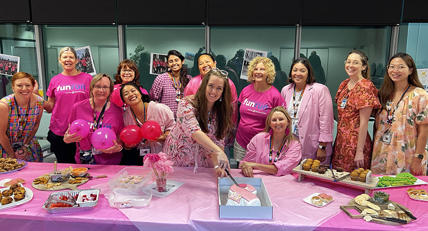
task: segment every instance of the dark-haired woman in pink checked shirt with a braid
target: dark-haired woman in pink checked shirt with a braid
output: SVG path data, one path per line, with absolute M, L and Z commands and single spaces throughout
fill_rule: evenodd
M 150 88 L 150 98 L 168 106 L 176 118 L 178 102 L 183 98 L 186 88 L 192 76 L 187 75 L 187 69 L 183 67 L 184 56 L 176 51 L 168 51 L 168 71 L 155 78 Z

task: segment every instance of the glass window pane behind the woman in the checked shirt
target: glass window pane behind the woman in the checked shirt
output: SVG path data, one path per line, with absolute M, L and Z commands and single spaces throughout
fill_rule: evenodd
M 184 57 L 184 66 L 189 75 L 193 75 L 192 68 L 198 50 L 205 49 L 205 26 L 126 26 L 126 56 L 137 63 L 140 71 L 140 83 L 148 91 L 159 73 L 151 66 L 155 58 L 166 58 L 156 54 L 166 55 L 169 50 L 177 50 Z M 205 51 L 204 51 L 205 52 Z M 152 57 L 152 53 L 155 53 Z M 116 65 L 117 67 L 117 65 Z M 160 73 L 168 67 L 162 67 Z M 152 73 L 152 74 L 150 74 Z

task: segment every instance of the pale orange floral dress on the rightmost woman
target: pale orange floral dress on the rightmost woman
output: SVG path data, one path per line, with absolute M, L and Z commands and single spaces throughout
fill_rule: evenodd
M 392 107 L 395 107 L 392 104 Z M 418 124 L 428 123 L 428 93 L 422 88 L 415 88 L 399 104 L 394 113 L 391 142 L 381 141 L 383 133 L 389 128 L 386 123 L 388 112 L 383 109 L 376 116 L 377 132 L 374 138 L 372 171 L 374 174 L 396 175 L 410 172 L 410 165 L 416 151 Z M 424 169 L 427 168 L 427 148 L 425 146 Z M 427 172 L 423 171 L 423 175 Z

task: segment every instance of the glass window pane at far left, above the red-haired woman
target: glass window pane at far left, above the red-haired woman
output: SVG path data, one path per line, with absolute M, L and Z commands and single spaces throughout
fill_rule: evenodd
M 0 24 L 0 54 L 0 98 L 13 93 L 10 79 L 18 71 L 12 67 L 18 64 L 16 57 L 19 71 L 30 73 L 39 81 L 33 25 Z

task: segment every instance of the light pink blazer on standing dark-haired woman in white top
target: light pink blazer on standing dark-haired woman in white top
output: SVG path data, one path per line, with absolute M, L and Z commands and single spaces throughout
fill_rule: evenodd
M 285 102 L 291 101 L 294 83 L 282 88 Z M 318 145 L 327 142 L 327 157 L 322 164 L 330 163 L 333 153 L 333 103 L 328 88 L 320 83 L 306 85 L 299 106 L 299 139 L 302 144 L 302 159 L 316 159 Z

